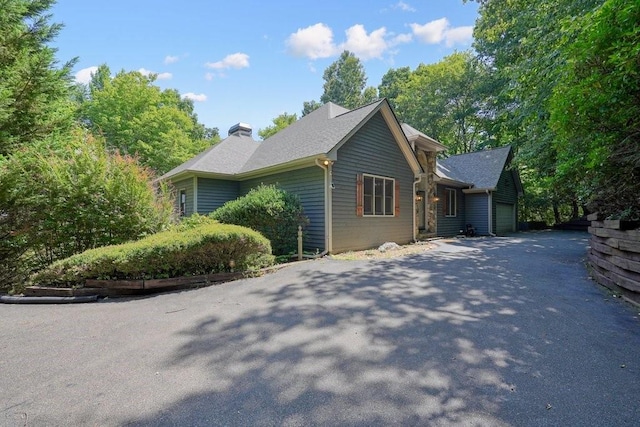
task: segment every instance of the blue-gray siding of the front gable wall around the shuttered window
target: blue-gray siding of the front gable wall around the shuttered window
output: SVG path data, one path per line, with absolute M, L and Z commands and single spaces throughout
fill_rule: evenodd
M 400 185 L 398 216 L 356 215 L 356 177 L 360 173 L 396 179 Z M 333 252 L 413 239 L 413 172 L 380 113 L 338 150 L 332 177 Z

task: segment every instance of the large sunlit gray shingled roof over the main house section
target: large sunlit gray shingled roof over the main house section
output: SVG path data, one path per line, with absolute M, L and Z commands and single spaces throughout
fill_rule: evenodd
M 187 172 L 236 175 L 328 154 L 383 102 L 354 110 L 329 102 L 262 142 L 230 135 L 160 179 Z

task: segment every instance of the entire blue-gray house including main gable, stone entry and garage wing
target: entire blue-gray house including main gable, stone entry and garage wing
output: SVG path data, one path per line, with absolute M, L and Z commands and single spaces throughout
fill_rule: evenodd
M 456 235 L 467 223 L 492 234 L 506 231 L 507 216 L 514 229 L 522 186 L 508 169 L 511 150 L 438 162 L 445 148 L 400 124 L 385 99 L 354 110 L 329 102 L 264 141 L 238 123 L 160 179 L 176 189 L 181 215 L 276 184 L 300 197 L 310 220 L 304 249 L 318 253 Z

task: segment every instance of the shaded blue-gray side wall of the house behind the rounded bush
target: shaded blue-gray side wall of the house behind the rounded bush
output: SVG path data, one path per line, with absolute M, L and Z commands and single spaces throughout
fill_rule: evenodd
M 318 166 L 313 166 L 242 181 L 239 183 L 239 194 L 247 194 L 260 184 L 275 184 L 300 197 L 304 213 L 309 217 L 304 250 L 324 251 L 324 171 Z

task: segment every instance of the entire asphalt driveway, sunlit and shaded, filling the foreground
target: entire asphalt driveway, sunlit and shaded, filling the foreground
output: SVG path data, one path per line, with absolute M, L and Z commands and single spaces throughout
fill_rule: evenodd
M 588 235 L 440 242 L 225 285 L 0 304 L 0 425 L 640 422 L 640 310 Z

